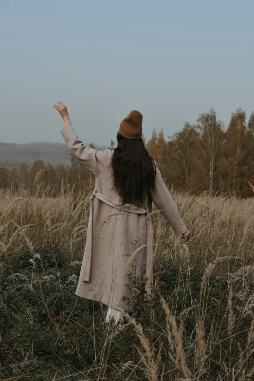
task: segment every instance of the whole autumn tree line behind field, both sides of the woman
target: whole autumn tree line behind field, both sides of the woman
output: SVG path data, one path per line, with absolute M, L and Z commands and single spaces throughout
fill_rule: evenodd
M 145 137 L 143 136 L 144 142 Z M 91 143 L 91 147 L 94 145 Z M 237 197 L 252 197 L 254 186 L 254 112 L 247 123 L 241 108 L 232 112 L 225 129 L 217 119 L 216 111 L 199 115 L 197 122 L 164 138 L 163 129 L 153 130 L 145 146 L 158 164 L 169 187 L 201 194 L 228 193 Z M 110 149 L 114 148 L 111 141 Z M 93 185 L 94 178 L 73 155 L 71 165 L 43 163 L 37 160 L 31 168 L 22 163 L 20 168 L 0 167 L 0 188 L 15 192 L 20 185 L 41 196 L 47 189 L 54 197 L 64 185 L 74 185 L 74 192 Z M 39 184 L 39 185 L 38 185 Z

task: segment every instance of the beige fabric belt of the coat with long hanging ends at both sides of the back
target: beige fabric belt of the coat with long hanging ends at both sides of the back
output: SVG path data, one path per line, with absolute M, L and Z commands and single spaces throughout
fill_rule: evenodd
M 148 208 L 139 208 L 133 205 L 124 205 L 121 206 L 118 202 L 108 199 L 108 197 L 104 196 L 102 193 L 97 193 L 96 190 L 91 195 L 91 229 L 88 229 L 87 241 L 91 242 L 92 245 L 92 215 L 93 215 L 93 200 L 96 199 L 105 202 L 106 204 L 112 206 L 113 208 L 120 209 L 123 212 L 128 213 L 136 213 L 136 214 L 144 214 L 145 216 L 149 213 Z M 89 282 L 91 272 L 91 247 L 89 248 L 87 263 L 85 266 L 83 281 Z M 150 293 L 151 284 L 152 284 L 152 276 L 153 276 L 153 225 L 152 219 L 149 216 L 147 218 L 147 245 L 146 245 L 146 276 L 148 278 L 145 284 L 145 291 Z

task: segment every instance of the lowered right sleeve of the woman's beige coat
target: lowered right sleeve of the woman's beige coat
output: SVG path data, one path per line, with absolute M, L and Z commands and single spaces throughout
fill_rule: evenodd
M 175 235 L 181 236 L 183 233 L 185 233 L 187 228 L 184 225 L 181 219 L 181 215 L 177 209 L 177 206 L 165 185 L 165 182 L 162 178 L 162 174 L 159 171 L 157 164 L 155 187 L 151 194 L 151 198 L 156 207 L 161 211 L 163 217 L 166 218 L 169 225 L 172 227 Z

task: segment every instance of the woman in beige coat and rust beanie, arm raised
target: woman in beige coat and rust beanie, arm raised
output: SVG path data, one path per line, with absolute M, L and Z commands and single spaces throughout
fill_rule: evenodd
M 73 155 L 95 175 L 87 240 L 76 295 L 108 306 L 106 321 L 122 319 L 127 311 L 126 273 L 129 258 L 137 256 L 135 271 L 142 275 L 146 260 L 145 291 L 150 293 L 153 269 L 152 201 L 176 235 L 188 241 L 186 229 L 157 164 L 142 139 L 142 114 L 132 110 L 120 124 L 118 146 L 98 151 L 78 139 L 66 106 L 57 101 L 65 127 L 60 131 Z M 147 216 L 147 217 L 146 217 Z M 130 262 L 128 262 L 129 264 Z

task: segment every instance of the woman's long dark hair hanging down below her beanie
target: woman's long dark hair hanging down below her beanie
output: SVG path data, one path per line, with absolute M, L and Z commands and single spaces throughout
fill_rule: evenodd
M 141 207 L 155 185 L 156 165 L 145 148 L 143 139 L 127 139 L 116 135 L 117 148 L 112 153 L 113 186 L 120 204 Z

